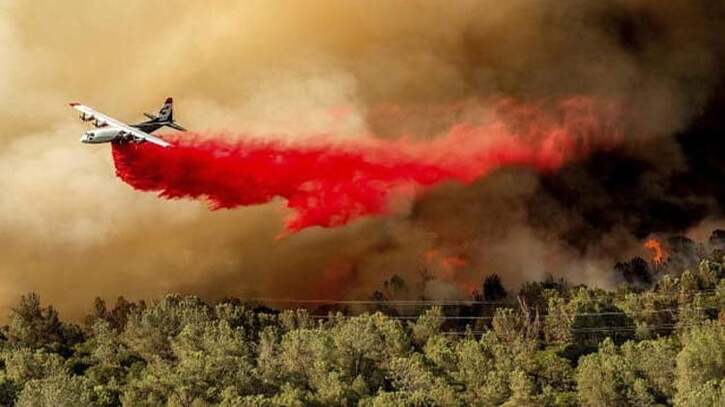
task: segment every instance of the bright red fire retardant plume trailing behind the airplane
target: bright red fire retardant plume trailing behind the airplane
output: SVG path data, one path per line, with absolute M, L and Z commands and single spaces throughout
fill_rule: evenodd
M 174 146 L 115 144 L 118 176 L 164 198 L 205 199 L 212 209 L 284 198 L 287 230 L 332 227 L 383 214 L 391 199 L 410 199 L 441 182 L 470 183 L 502 166 L 552 171 L 611 145 L 611 104 L 573 98 L 547 113 L 501 102 L 495 119 L 458 124 L 428 141 L 320 136 L 304 142 L 186 133 Z

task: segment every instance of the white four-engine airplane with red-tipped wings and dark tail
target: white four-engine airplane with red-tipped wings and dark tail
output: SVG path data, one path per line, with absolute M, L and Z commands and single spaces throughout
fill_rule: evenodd
M 116 119 L 97 112 L 86 105 L 78 102 L 69 103 L 72 108 L 81 112 L 80 117 L 84 122 L 93 122 L 95 129 L 83 133 L 81 143 L 143 143 L 149 142 L 161 147 L 170 147 L 171 143 L 152 136 L 151 132 L 163 126 L 171 127 L 179 131 L 186 131 L 174 121 L 173 99 L 166 98 L 164 106 L 159 110 L 158 116 L 144 113 L 149 120 L 138 124 L 125 124 Z

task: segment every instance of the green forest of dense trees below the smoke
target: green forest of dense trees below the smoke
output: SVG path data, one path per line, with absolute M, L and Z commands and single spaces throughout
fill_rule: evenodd
M 2 328 L 0 403 L 722 406 L 723 242 L 673 238 L 662 264 L 618 263 L 612 290 L 546 278 L 507 291 L 493 274 L 434 301 L 396 297 L 392 277 L 329 304 L 97 298 L 82 321 L 29 293 Z

